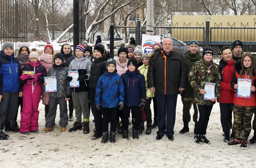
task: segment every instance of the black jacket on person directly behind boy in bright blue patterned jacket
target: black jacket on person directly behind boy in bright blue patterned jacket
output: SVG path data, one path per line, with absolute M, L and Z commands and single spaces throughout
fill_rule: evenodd
M 89 89 L 90 92 L 96 92 L 96 85 L 101 75 L 106 72 L 106 62 L 108 58 L 106 56 L 100 57 L 98 59 L 94 58 L 94 62 L 91 66 L 91 76 L 89 79 Z

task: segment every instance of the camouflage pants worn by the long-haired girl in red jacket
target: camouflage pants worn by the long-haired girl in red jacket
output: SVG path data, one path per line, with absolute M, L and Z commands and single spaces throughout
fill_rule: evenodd
M 239 106 L 234 104 L 234 129 L 235 129 L 235 138 L 240 139 L 241 132 L 241 123 L 244 119 L 244 137 L 243 139 L 247 141 L 251 130 L 252 130 L 252 115 L 254 112 L 255 106 Z

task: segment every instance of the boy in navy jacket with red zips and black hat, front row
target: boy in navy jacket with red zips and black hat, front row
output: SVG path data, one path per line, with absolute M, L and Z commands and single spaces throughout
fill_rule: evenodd
M 140 74 L 138 62 L 130 58 L 127 63 L 128 70 L 121 75 L 124 82 L 124 113 L 122 119 L 122 134 L 128 139 L 128 126 L 130 111 L 132 111 L 132 138 L 139 139 L 139 116 L 146 104 L 146 82 L 144 75 Z

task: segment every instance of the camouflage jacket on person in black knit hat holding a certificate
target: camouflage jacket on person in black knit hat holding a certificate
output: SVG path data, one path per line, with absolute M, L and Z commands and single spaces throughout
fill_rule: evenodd
M 206 82 L 216 83 L 215 97 L 217 97 L 217 99 L 220 98 L 221 76 L 219 65 L 214 64 L 213 61 L 210 63 L 206 63 L 204 59 L 201 59 L 201 61 L 195 62 L 195 64 L 192 66 L 188 73 L 188 81 L 192 88 L 194 88 L 194 99 L 196 104 L 213 105 L 215 104 L 215 101 L 213 102 L 211 100 L 204 100 L 204 95 L 200 93 L 200 90 L 204 88 Z M 207 70 L 211 65 L 212 67 L 209 69 L 211 72 L 207 73 Z

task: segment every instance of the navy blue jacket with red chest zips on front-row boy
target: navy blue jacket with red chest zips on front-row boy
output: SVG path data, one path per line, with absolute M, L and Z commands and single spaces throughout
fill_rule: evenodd
M 139 70 L 130 72 L 127 70 L 121 75 L 124 82 L 124 105 L 139 106 L 140 99 L 146 100 L 145 77 Z

